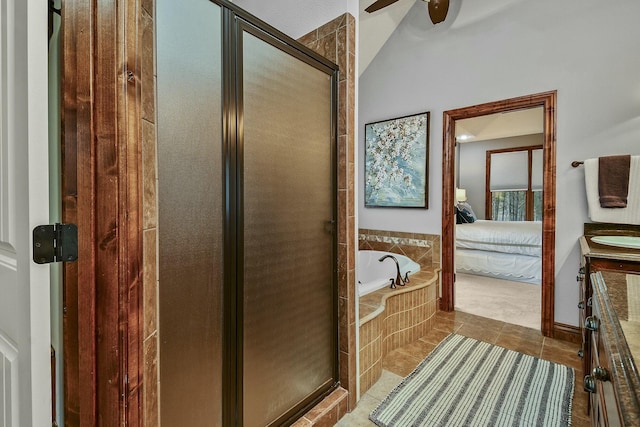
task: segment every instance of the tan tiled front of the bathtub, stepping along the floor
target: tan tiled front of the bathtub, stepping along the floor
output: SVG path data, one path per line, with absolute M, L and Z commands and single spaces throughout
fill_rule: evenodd
M 382 360 L 427 334 L 437 311 L 438 269 L 410 276 L 405 287 L 360 297 L 360 393 L 382 375 Z

